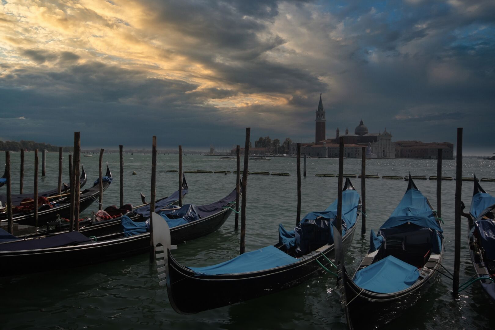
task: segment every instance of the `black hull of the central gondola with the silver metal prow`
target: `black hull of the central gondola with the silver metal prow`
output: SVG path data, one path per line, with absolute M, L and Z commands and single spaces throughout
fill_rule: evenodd
M 355 227 L 344 237 L 346 249 L 352 242 Z M 333 245 L 323 253 L 333 258 Z M 331 267 L 321 253 L 316 253 L 315 257 L 327 268 Z M 169 301 L 176 312 L 193 314 L 275 293 L 321 274 L 323 270 L 315 257 L 260 272 L 195 276 L 190 269 L 181 266 L 169 251 L 166 271 Z

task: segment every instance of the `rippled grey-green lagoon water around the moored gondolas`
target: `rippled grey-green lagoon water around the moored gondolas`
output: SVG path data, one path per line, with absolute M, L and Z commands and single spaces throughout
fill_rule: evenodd
M 34 153 L 25 154 L 24 191 L 33 187 Z M 88 174 L 87 185 L 98 177 L 98 155 L 81 157 Z M 19 153 L 11 154 L 13 193 L 18 193 Z M 119 203 L 119 156 L 105 154 L 115 178 L 104 192 L 104 207 Z M 0 163 L 4 153 L 0 154 Z M 157 198 L 168 196 L 178 188 L 178 155 L 158 155 Z M 64 154 L 64 181 L 68 181 L 68 157 Z M 184 170 L 234 171 L 235 160 L 214 156 L 183 156 Z M 344 173 L 359 174 L 360 159 L 347 159 Z M 242 166 L 242 164 L 241 164 Z M 436 160 L 373 159 L 366 162 L 367 174 L 404 176 L 436 175 Z M 302 160 L 301 160 L 302 167 Z M 141 204 L 140 192 L 149 200 L 151 155 L 124 154 L 124 199 Z M 250 175 L 247 180 L 246 250 L 251 251 L 278 241 L 277 226 L 291 228 L 296 223 L 296 158 L 272 158 L 249 161 L 250 171 L 287 172 L 290 176 Z M 58 153 L 47 154 L 47 176 L 40 179 L 39 189 L 56 187 Z M 103 169 L 104 171 L 104 169 Z M 136 171 L 137 175 L 132 175 Z M 315 174 L 338 171 L 338 159 L 308 159 L 307 177 L 301 179 L 301 214 L 325 209 L 337 197 L 337 178 Z M 104 172 L 103 172 L 104 173 Z M 463 176 L 495 178 L 495 161 L 463 159 Z M 455 160 L 444 160 L 443 175 L 455 177 Z M 41 153 L 40 153 L 41 177 Z M 185 203 L 206 204 L 227 195 L 235 188 L 235 174 L 186 174 L 189 193 Z M 360 191 L 361 180 L 351 179 Z M 418 189 L 436 207 L 436 181 L 416 180 Z M 481 183 L 495 195 L 495 183 Z M 346 263 L 350 271 L 359 265 L 369 247 L 369 231 L 375 231 L 389 217 L 401 199 L 407 182 L 403 180 L 367 179 L 367 235 L 361 236 L 357 224 Z M 442 182 L 442 218 L 445 221 L 446 251 L 443 265 L 453 270 L 455 181 Z M 473 182 L 462 183 L 462 199 L 469 208 Z M 5 187 L 0 188 L 5 193 Z M 94 203 L 83 212 L 96 210 Z M 467 246 L 467 221 L 462 218 L 461 283 L 471 278 Z M 208 236 L 179 245 L 174 257 L 186 266 L 206 266 L 235 257 L 239 253 L 240 232 L 234 231 L 234 214 L 221 229 Z M 63 260 L 60 260 L 63 263 Z M 8 265 L 0 265 L 8 267 Z M 441 277 L 436 285 L 405 315 L 385 329 L 495 329 L 494 304 L 477 284 L 451 295 L 451 280 Z M 166 289 L 158 285 L 156 271 L 148 254 L 84 268 L 0 279 L 1 329 L 346 329 L 345 315 L 335 292 L 335 279 L 328 274 L 279 293 L 195 315 L 174 312 Z M 222 294 L 222 292 L 218 292 Z M 195 299 L 194 296 L 190 297 Z

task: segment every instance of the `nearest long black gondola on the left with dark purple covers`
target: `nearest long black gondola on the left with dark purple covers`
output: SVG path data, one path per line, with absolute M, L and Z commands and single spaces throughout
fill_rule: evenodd
M 200 218 L 172 228 L 172 241 L 178 244 L 214 232 L 232 213 L 235 200 L 234 190 L 217 202 L 194 207 Z M 184 205 L 179 210 L 189 207 Z M 164 218 L 160 219 L 165 222 Z M 146 222 L 133 223 L 136 225 L 134 233 L 128 226 L 126 230 L 121 228 L 96 237 L 89 232 L 74 231 L 24 240 L 0 229 L 0 277 L 96 264 L 148 252 L 149 232 L 146 226 L 141 226 Z

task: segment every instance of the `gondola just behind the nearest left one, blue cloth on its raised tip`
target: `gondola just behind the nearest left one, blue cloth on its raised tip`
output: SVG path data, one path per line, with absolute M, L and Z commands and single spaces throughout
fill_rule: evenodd
M 182 179 L 182 197 L 184 197 L 189 191 L 189 187 L 186 181 L 186 177 Z M 160 212 L 160 209 L 169 206 L 177 205 L 179 202 L 179 190 L 176 190 L 170 196 L 160 198 L 155 201 L 155 212 Z M 114 233 L 119 233 L 122 229 L 121 220 L 125 215 L 132 221 L 141 222 L 149 218 L 149 203 L 146 205 L 133 208 L 131 204 L 125 204 L 120 208 L 116 206 L 108 206 L 104 209 L 105 213 L 111 219 L 104 219 L 104 217 L 91 216 L 83 219 L 79 222 L 79 232 L 86 236 L 102 236 Z M 97 213 L 98 214 L 98 213 Z M 55 221 L 48 222 L 46 228 L 38 230 L 36 233 L 25 234 L 18 236 L 22 239 L 35 238 L 39 236 L 45 236 L 52 233 L 68 232 L 69 223 L 64 219 L 57 219 Z

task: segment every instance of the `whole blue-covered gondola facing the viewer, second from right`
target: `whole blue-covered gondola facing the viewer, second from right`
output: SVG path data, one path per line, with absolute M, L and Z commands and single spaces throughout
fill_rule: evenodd
M 409 175 L 390 218 L 378 235 L 371 231 L 370 249 L 354 276 L 344 265 L 339 274 L 349 329 L 377 329 L 391 322 L 435 282 L 444 253 L 440 221 Z

